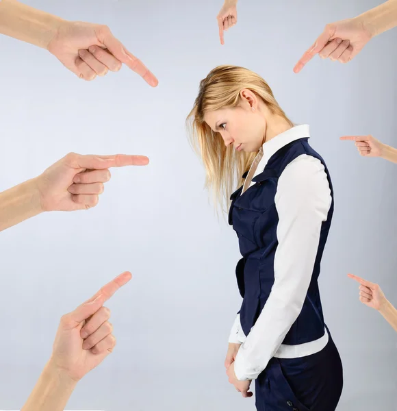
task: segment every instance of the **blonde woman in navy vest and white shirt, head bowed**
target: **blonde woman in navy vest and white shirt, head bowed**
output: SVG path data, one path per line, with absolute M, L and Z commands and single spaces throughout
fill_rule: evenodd
M 225 206 L 235 176 L 240 186 L 229 210 L 243 297 L 229 340 L 229 381 L 249 397 L 255 379 L 260 411 L 335 410 L 342 363 L 317 284 L 333 189 L 308 144 L 309 126 L 294 127 L 264 79 L 236 66 L 201 81 L 188 120 L 214 199 Z

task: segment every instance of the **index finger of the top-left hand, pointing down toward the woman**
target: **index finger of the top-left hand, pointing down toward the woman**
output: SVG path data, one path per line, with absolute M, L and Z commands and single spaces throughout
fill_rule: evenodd
M 125 49 L 123 44 L 113 36 L 112 32 L 110 32 L 110 29 L 103 29 L 103 32 L 99 33 L 99 40 L 101 40 L 103 45 L 105 45 L 115 58 L 128 66 L 132 71 L 138 73 L 147 84 L 153 87 L 159 84 L 155 75 L 153 75 L 153 73 L 151 73 L 151 71 L 149 71 L 149 69 L 136 58 L 135 55 Z

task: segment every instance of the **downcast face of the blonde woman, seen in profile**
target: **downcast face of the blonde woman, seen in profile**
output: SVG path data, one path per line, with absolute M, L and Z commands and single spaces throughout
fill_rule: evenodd
M 258 106 L 252 110 L 250 103 L 243 101 L 235 108 L 207 112 L 204 120 L 222 136 L 226 146 L 233 145 L 238 151 L 254 153 L 264 144 L 266 119 Z

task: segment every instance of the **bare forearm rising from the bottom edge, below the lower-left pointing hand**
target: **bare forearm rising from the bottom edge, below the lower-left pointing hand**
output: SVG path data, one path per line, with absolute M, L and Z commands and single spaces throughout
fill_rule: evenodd
M 21 411 L 63 411 L 76 384 L 49 362 Z

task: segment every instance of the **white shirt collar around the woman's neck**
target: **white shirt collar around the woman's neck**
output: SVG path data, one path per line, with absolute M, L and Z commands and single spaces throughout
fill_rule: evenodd
M 263 156 L 257 166 L 255 175 L 258 175 L 259 173 L 264 171 L 266 164 L 268 164 L 268 161 L 270 160 L 273 154 L 277 153 L 277 151 L 282 149 L 287 144 L 290 144 L 290 142 L 293 142 L 295 140 L 299 140 L 299 138 L 305 138 L 305 137 L 310 137 L 309 125 L 301 124 L 301 125 L 296 125 L 295 127 L 292 127 L 290 129 L 287 129 L 286 132 L 278 134 L 277 136 L 273 137 L 271 140 L 266 141 L 264 145 L 261 147 L 261 149 L 259 150 L 259 154 L 263 154 Z

